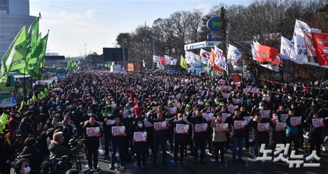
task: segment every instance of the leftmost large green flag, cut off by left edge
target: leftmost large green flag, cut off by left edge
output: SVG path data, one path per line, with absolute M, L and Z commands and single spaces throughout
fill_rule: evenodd
M 1 86 L 6 84 L 8 72 L 25 68 L 27 53 L 27 33 L 26 26 L 19 31 L 18 35 L 10 44 L 1 60 Z

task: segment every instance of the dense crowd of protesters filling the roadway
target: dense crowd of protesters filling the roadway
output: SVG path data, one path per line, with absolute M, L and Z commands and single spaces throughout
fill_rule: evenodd
M 273 151 L 276 144 L 291 144 L 289 155 L 292 149 L 316 151 L 318 157 L 326 151 L 328 90 L 318 95 L 304 86 L 255 85 L 248 79 L 236 84 L 203 73 L 81 70 L 48 91 L 42 99 L 3 111 L 0 173 L 10 173 L 12 162 L 16 173 L 40 173 L 46 159 L 59 160 L 55 165 L 66 171 L 81 148 L 87 167 L 100 170 L 100 139 L 111 170 L 134 159 L 138 168 L 146 168 L 148 158 L 157 166 L 158 151 L 163 165 L 167 154 L 173 165 L 183 165 L 187 155 L 195 164 L 205 163 L 210 154 L 225 165 L 225 153 L 242 163 L 245 152 L 256 162 L 261 144 Z M 301 122 L 295 124 L 294 117 Z M 322 126 L 311 120 L 318 118 Z M 266 123 L 262 130 L 259 124 Z M 276 128 L 280 123 L 284 128 Z

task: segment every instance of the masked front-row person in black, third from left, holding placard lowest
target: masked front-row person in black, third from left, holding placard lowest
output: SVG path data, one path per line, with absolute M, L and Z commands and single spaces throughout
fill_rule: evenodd
M 142 119 L 138 119 L 138 121 L 134 125 L 134 132 L 146 132 Z M 136 153 L 138 168 L 140 168 L 141 166 L 141 161 L 143 162 L 143 167 L 146 168 L 146 151 L 147 151 L 147 141 L 134 142 L 134 152 Z

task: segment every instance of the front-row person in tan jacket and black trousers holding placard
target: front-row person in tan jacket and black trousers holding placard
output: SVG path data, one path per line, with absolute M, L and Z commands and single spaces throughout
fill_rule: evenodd
M 215 148 L 214 154 L 215 154 L 215 162 L 219 162 L 219 151 L 220 151 L 220 157 L 221 157 L 221 163 L 224 165 L 224 152 L 225 152 L 225 144 L 227 141 L 226 133 L 221 132 L 217 130 L 216 126 L 217 124 L 225 124 L 222 120 L 222 117 L 220 114 L 215 115 L 216 117 L 213 117 L 212 122 L 210 124 L 210 127 L 213 129 L 213 146 Z

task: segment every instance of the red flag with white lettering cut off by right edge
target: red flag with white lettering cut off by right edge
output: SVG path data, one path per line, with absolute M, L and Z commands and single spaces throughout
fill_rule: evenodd
M 328 34 L 312 32 L 314 47 L 320 66 L 328 65 Z

